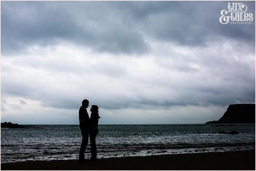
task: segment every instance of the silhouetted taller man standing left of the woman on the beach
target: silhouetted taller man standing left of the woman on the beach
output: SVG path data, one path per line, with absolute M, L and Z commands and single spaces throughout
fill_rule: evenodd
M 80 130 L 82 134 L 82 143 L 79 152 L 79 162 L 83 162 L 84 159 L 84 152 L 85 148 L 88 145 L 88 138 L 89 138 L 89 130 L 90 130 L 90 119 L 87 113 L 86 108 L 89 106 L 89 101 L 84 99 L 82 101 L 82 106 L 79 109 L 79 124 Z

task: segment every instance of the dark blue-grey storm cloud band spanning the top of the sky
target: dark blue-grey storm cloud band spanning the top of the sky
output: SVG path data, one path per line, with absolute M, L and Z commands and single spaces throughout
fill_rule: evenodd
M 245 2 L 254 12 L 254 2 Z M 148 39 L 204 46 L 224 36 L 254 47 L 252 25 L 221 25 L 227 2 L 3 2 L 2 53 L 60 41 L 110 53 L 148 51 Z

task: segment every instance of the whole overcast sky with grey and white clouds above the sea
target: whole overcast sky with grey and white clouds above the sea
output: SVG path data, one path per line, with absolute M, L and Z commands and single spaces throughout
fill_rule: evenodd
M 243 3 L 252 24 L 222 25 L 226 1 L 1 2 L 1 122 L 78 124 L 83 99 L 99 124 L 205 123 L 255 103 Z

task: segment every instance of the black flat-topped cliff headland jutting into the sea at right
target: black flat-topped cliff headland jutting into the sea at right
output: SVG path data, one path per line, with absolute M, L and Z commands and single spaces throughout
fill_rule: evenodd
M 255 123 L 255 104 L 229 105 L 224 115 L 218 121 L 206 124 Z

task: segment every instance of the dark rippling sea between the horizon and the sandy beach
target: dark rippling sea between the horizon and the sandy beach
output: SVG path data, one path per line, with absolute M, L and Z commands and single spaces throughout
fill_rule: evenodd
M 79 125 L 32 126 L 1 128 L 1 163 L 78 159 Z M 99 125 L 96 144 L 98 158 L 255 150 L 255 124 Z

